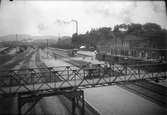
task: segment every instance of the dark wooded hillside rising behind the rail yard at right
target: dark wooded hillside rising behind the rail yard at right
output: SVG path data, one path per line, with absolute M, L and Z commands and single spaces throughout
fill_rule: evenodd
M 85 34 L 73 34 L 72 44 L 76 48 L 85 45 L 87 49 L 96 49 L 98 45 L 112 45 L 113 39 L 127 41 L 132 47 L 167 48 L 167 30 L 155 23 L 120 24 L 113 30 L 110 27 L 92 29 Z

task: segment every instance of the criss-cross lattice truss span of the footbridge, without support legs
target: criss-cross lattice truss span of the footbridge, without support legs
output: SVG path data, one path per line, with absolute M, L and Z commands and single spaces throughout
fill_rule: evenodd
M 99 85 L 166 78 L 166 64 L 96 65 L 76 68 L 49 67 L 0 72 L 0 94 L 16 94 L 64 88 L 87 88 Z

